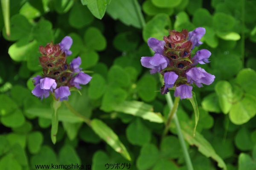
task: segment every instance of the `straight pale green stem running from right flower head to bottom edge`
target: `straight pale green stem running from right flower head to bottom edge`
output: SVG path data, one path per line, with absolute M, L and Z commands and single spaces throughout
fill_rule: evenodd
M 166 96 L 166 101 L 167 101 L 167 103 L 169 105 L 169 108 L 171 110 L 174 110 L 175 107 L 178 107 L 180 98 L 175 97 L 175 101 L 174 101 L 174 104 L 173 104 L 172 103 L 172 98 L 170 96 L 170 93 L 168 92 L 168 94 L 165 95 L 165 96 Z M 177 111 L 177 108 L 175 110 Z M 176 113 L 176 111 L 175 111 L 175 113 Z M 170 116 L 171 116 L 171 114 L 169 114 L 169 117 Z M 168 119 L 169 119 L 169 117 L 168 117 Z M 186 144 L 185 144 L 185 141 L 184 141 L 184 138 L 183 138 L 183 134 L 182 134 L 182 131 L 181 131 L 181 127 L 180 127 L 180 123 L 179 123 L 178 117 L 174 113 L 173 113 L 172 117 L 174 119 L 175 127 L 176 127 L 176 130 L 177 130 L 177 135 L 178 135 L 178 138 L 179 138 L 179 141 L 180 141 L 180 146 L 181 146 L 181 149 L 183 151 L 183 155 L 184 155 L 184 158 L 185 158 L 185 161 L 186 161 L 187 169 L 188 170 L 194 170 L 192 162 L 191 162 L 191 159 L 190 159 L 190 156 L 189 156 L 189 152 L 188 152 L 188 150 L 186 148 Z M 167 128 L 167 132 L 168 132 L 168 130 L 169 130 L 169 127 Z

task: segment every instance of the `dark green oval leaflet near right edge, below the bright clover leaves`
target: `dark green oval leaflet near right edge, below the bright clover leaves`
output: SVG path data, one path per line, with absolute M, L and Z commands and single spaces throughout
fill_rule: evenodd
M 251 140 L 251 135 L 249 131 L 245 127 L 242 127 L 236 133 L 235 144 L 236 147 L 242 151 L 249 151 L 253 149 L 254 143 Z

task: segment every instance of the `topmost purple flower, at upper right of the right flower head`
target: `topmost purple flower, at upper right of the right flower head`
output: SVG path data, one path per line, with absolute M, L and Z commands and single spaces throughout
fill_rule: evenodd
M 192 49 L 194 49 L 195 46 L 200 46 L 202 44 L 200 40 L 204 34 L 205 28 L 203 27 L 198 27 L 194 31 L 189 32 L 189 40 L 192 42 Z

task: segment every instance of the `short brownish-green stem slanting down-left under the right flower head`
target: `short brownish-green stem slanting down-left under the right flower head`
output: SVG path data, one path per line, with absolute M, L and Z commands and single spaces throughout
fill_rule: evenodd
M 169 92 L 168 92 L 169 93 Z M 169 97 L 168 97 L 169 96 Z M 168 99 L 167 99 L 167 97 L 168 97 Z M 169 104 L 172 104 L 172 98 L 171 98 L 171 96 L 170 95 L 167 95 L 166 96 L 166 100 L 167 100 L 167 102 L 168 102 L 168 105 Z M 178 106 L 179 106 L 179 101 L 180 101 L 180 97 L 175 97 L 175 101 L 174 101 L 174 104 L 172 104 L 172 109 L 171 109 L 171 111 L 169 112 L 169 114 L 168 114 L 168 117 L 167 117 L 167 121 L 166 121 L 166 127 L 165 127 L 165 129 L 163 130 L 163 135 L 162 135 L 162 139 L 166 136 L 166 134 L 168 133 L 168 131 L 169 131 L 169 128 L 170 128 L 170 125 L 171 125 L 171 121 L 172 121 L 172 117 L 173 117 L 173 115 L 175 115 L 176 114 L 176 112 L 177 112 L 177 109 L 178 109 Z M 169 105 L 170 106 L 170 105 Z

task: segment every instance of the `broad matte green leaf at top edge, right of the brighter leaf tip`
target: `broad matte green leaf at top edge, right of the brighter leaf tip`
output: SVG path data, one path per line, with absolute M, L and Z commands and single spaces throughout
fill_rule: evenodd
M 112 0 L 108 5 L 107 13 L 114 19 L 119 19 L 128 26 L 141 28 L 140 17 L 133 0 Z

